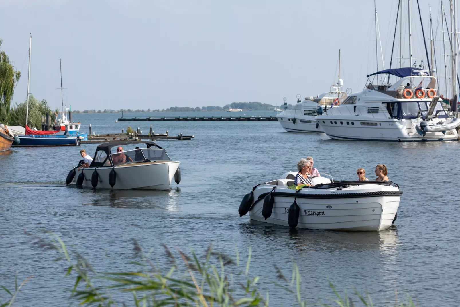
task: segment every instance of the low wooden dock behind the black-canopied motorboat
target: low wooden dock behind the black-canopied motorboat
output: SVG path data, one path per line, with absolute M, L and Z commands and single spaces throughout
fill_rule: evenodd
M 98 144 L 106 142 L 115 142 L 115 141 L 162 141 L 162 140 L 191 140 L 195 136 L 184 136 L 182 133 L 179 133 L 177 136 L 170 136 L 168 133 L 159 133 L 159 134 L 122 134 L 122 133 L 110 133 L 110 134 L 98 134 L 98 135 L 89 135 L 88 141 L 81 141 L 82 144 Z

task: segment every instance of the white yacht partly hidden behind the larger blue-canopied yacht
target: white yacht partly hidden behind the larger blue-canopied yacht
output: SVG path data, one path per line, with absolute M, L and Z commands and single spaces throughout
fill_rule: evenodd
M 315 117 L 322 114 L 323 110 L 338 106 L 343 102 L 347 93 L 342 91 L 343 81 L 339 79 L 336 84 L 331 86 L 329 92 L 315 97 L 305 97 L 304 101 L 297 100 L 297 104 L 292 110 L 285 109 L 276 115 L 278 121 L 288 132 L 323 132 L 322 128 L 316 123 Z M 300 95 L 297 96 L 300 98 Z M 286 103 L 285 103 L 286 106 Z

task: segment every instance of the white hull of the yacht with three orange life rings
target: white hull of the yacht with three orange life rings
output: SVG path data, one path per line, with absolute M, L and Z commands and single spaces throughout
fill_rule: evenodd
M 456 141 L 458 138 L 455 129 L 445 130 L 445 134 L 429 131 L 423 136 L 415 129 L 417 122 L 406 119 L 321 115 L 316 120 L 324 133 L 336 140 L 426 142 Z

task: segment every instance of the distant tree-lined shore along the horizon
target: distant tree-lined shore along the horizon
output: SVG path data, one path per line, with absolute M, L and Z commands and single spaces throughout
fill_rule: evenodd
M 151 113 L 151 112 L 213 112 L 213 111 L 227 111 L 230 109 L 242 109 L 243 111 L 274 111 L 277 107 L 280 106 L 272 106 L 266 103 L 261 103 L 258 101 L 253 102 L 232 102 L 229 105 L 225 106 L 197 106 L 197 107 L 190 107 L 190 106 L 172 106 L 167 109 L 120 109 L 120 110 L 110 110 L 104 109 L 103 110 L 83 110 L 83 111 L 72 111 L 73 113 Z M 292 109 L 293 105 L 288 105 L 288 109 Z

